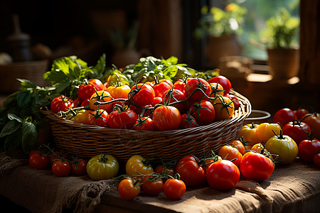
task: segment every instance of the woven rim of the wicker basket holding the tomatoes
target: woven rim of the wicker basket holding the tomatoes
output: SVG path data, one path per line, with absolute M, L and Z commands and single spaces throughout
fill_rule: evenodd
M 212 131 L 213 129 L 219 129 L 223 128 L 223 126 L 238 123 L 239 121 L 244 121 L 247 116 L 251 114 L 252 107 L 250 104 L 250 101 L 242 96 L 242 94 L 235 92 L 234 89 L 230 90 L 230 94 L 234 94 L 239 100 L 240 100 L 240 107 L 237 111 L 235 111 L 235 114 L 230 119 L 225 119 L 223 121 L 215 121 L 212 124 L 206 125 L 206 126 L 196 126 L 186 129 L 176 129 L 171 131 L 139 131 L 134 129 L 112 129 L 107 128 L 103 126 L 95 126 L 95 125 L 89 125 L 89 124 L 80 124 L 75 123 L 74 121 L 70 121 L 68 119 L 63 119 L 58 114 L 53 113 L 53 111 L 50 111 L 49 109 L 41 108 L 41 113 L 46 115 L 48 119 L 50 119 L 53 122 L 58 122 L 60 124 L 66 125 L 66 126 L 72 126 L 73 128 L 79 128 L 79 129 L 90 129 L 90 131 L 107 131 L 108 133 L 117 132 L 117 133 L 132 133 L 132 134 L 147 134 L 147 133 L 156 133 L 159 132 L 164 135 L 186 135 L 188 134 L 197 134 L 202 131 Z

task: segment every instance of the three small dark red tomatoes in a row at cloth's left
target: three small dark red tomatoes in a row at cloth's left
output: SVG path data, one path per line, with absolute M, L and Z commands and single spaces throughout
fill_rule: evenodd
M 36 169 L 51 168 L 53 175 L 65 177 L 68 175 L 82 176 L 87 174 L 87 162 L 84 159 L 73 158 L 64 151 L 53 151 L 48 146 L 41 146 L 29 153 L 29 165 Z

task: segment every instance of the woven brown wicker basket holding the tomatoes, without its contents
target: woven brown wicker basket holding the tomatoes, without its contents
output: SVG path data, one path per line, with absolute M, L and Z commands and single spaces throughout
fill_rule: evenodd
M 203 149 L 218 153 L 221 146 L 238 137 L 243 121 L 251 113 L 251 104 L 238 92 L 231 90 L 231 93 L 240 99 L 240 108 L 231 119 L 174 131 L 109 129 L 76 124 L 52 111 L 42 112 L 49 119 L 55 146 L 79 158 L 89 159 L 98 153 L 109 153 L 119 163 L 126 162 L 134 154 L 145 158 L 158 155 L 162 160 L 174 160 L 188 154 L 202 157 Z

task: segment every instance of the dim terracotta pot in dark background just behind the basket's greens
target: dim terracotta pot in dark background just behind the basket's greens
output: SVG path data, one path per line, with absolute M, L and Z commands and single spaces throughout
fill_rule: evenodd
M 118 68 L 139 62 L 140 53 L 134 49 L 117 50 L 112 56 L 112 63 Z

